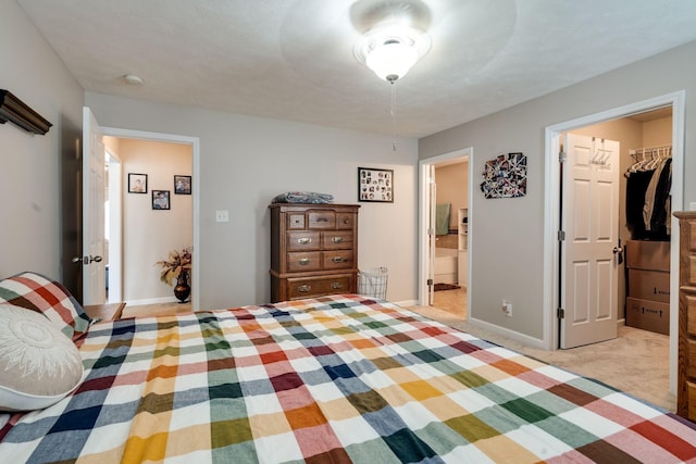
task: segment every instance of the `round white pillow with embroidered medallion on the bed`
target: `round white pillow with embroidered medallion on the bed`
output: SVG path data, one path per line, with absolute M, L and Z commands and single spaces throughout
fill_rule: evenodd
M 83 375 L 77 347 L 48 317 L 0 304 L 0 411 L 48 407 Z

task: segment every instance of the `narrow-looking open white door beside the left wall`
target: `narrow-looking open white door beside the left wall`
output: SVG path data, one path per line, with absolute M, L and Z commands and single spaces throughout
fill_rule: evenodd
M 83 108 L 83 304 L 103 304 L 104 141 L 89 108 Z

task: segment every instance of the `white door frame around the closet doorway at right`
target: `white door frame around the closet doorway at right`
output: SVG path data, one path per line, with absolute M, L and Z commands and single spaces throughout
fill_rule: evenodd
M 631 116 L 637 113 L 672 106 L 672 211 L 684 208 L 684 111 L 686 92 L 684 90 L 638 101 L 599 113 L 546 126 L 545 128 L 545 196 L 544 196 L 544 339 L 548 348 L 558 347 L 559 327 L 556 309 L 559 308 L 560 277 L 558 260 L 560 244 L 557 240 L 560 208 L 560 173 L 558 153 L 561 133 L 604 123 L 606 121 Z M 679 333 L 679 224 L 671 217 L 670 251 L 670 392 L 676 394 L 676 362 Z

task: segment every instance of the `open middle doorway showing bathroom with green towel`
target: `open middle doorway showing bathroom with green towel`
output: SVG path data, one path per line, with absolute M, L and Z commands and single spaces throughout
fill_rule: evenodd
M 421 162 L 419 299 L 462 318 L 469 306 L 471 149 Z

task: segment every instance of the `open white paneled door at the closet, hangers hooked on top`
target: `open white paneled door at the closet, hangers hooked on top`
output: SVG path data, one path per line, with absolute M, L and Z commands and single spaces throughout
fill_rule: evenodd
M 561 187 L 560 347 L 617 337 L 619 142 L 569 134 Z

